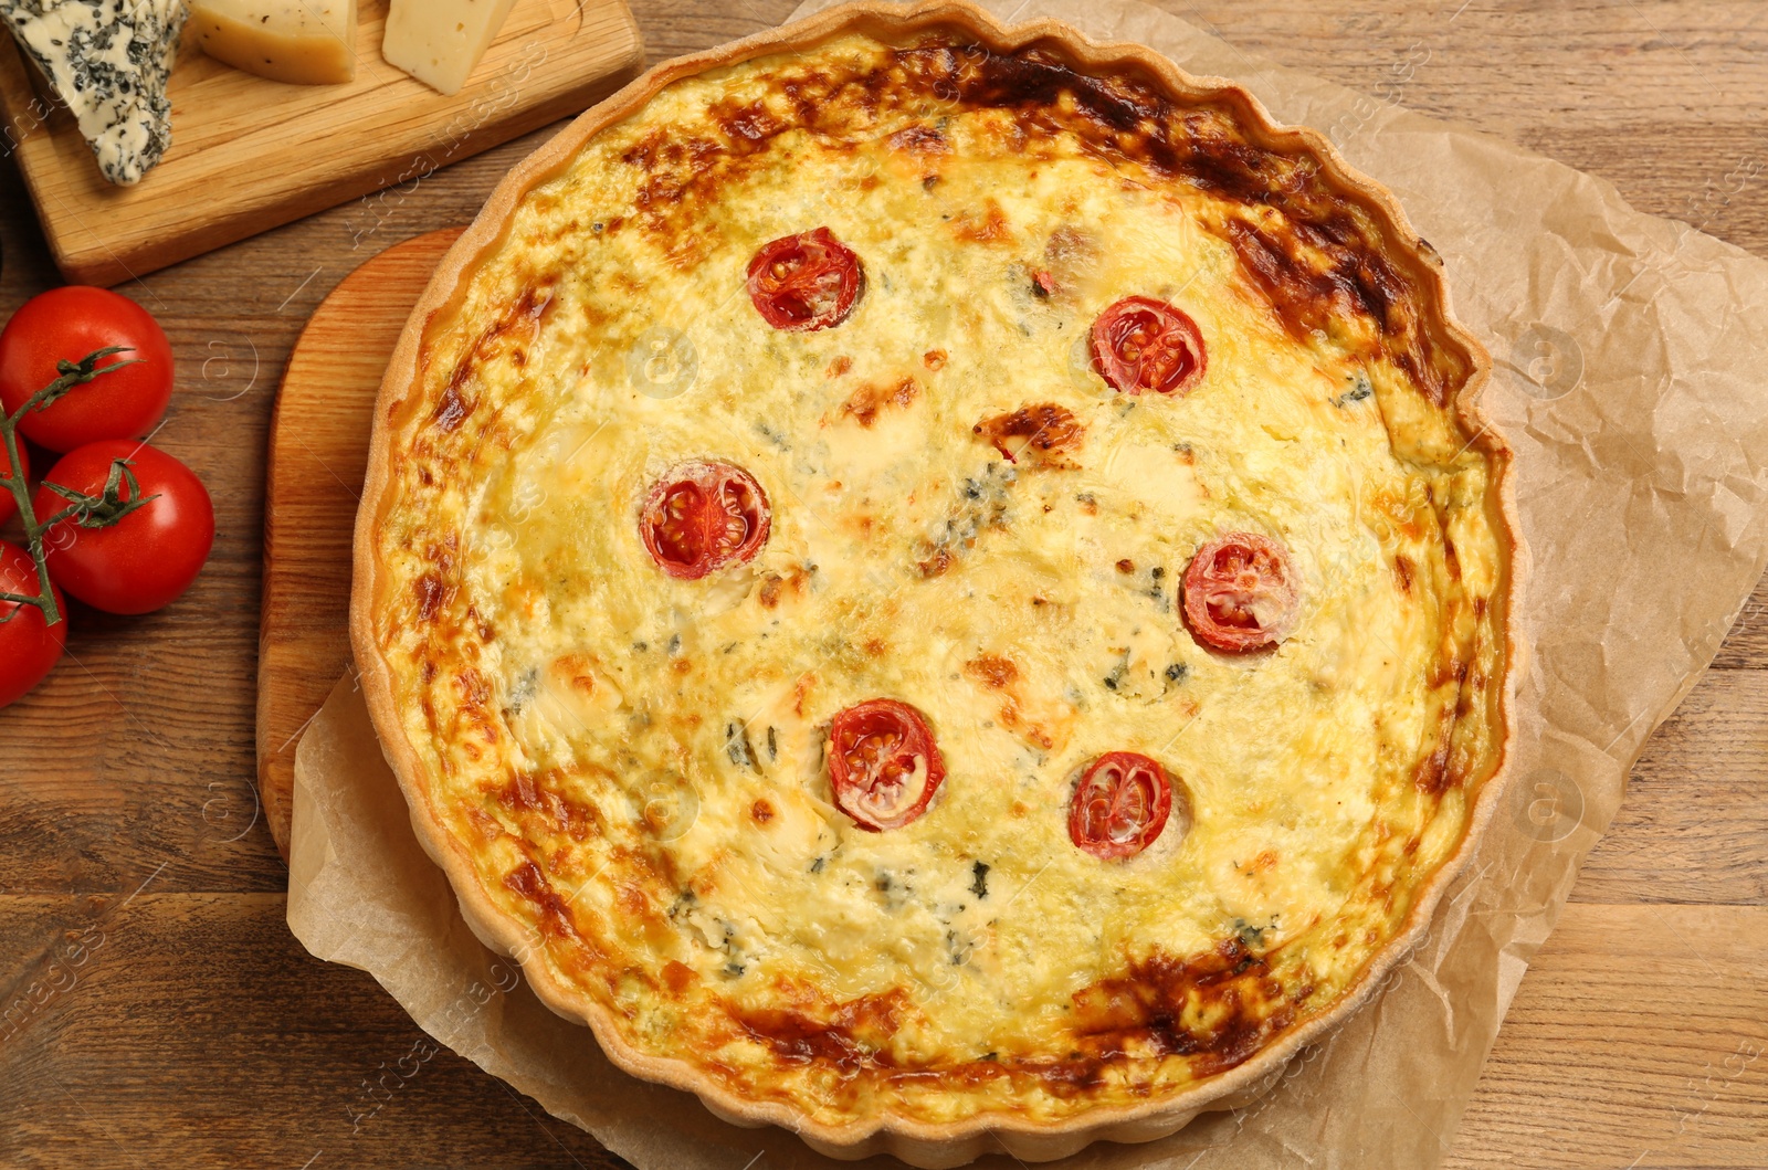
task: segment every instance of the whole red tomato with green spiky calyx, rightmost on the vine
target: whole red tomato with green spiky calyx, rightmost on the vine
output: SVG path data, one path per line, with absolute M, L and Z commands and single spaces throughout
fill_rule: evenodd
M 108 528 L 85 528 L 74 518 L 44 534 L 50 576 L 87 604 L 106 613 L 150 613 L 177 601 L 216 539 L 216 513 L 209 490 L 191 468 L 147 444 L 111 438 L 87 444 L 42 477 L 37 518 L 67 507 L 50 484 L 99 497 L 115 460 L 129 460 L 140 493 L 122 486 L 124 502 L 157 497 Z

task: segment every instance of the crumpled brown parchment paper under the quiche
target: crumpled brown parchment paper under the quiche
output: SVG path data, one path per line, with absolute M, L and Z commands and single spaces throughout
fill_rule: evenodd
M 1535 562 L 1519 615 L 1533 656 L 1513 799 L 1384 995 L 1254 1105 L 1054 1165 L 1436 1166 L 1646 735 L 1768 560 L 1768 262 L 1641 216 L 1600 179 L 1250 60 L 1135 0 L 1015 4 L 988 7 L 1057 16 L 1239 81 L 1398 194 L 1448 262 L 1457 316 L 1497 361 L 1487 403 L 1517 451 Z M 438 1041 L 640 1170 L 850 1165 L 621 1075 L 587 1029 L 543 1007 L 472 937 L 415 843 L 350 679 L 301 744 L 288 923 L 313 954 L 373 972 Z

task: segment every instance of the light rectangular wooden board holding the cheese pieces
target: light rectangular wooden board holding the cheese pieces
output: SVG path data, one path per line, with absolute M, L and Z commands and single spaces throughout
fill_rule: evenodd
M 626 0 L 518 0 L 472 78 L 444 97 L 380 55 L 387 0 L 362 0 L 355 80 L 285 85 L 210 60 L 187 32 L 171 148 L 106 182 L 72 115 L 0 32 L 0 154 L 12 154 L 69 281 L 117 285 L 382 187 L 423 182 L 583 111 L 635 76 Z

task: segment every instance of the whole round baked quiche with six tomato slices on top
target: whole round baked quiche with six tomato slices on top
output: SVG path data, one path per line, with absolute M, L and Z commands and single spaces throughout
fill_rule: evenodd
M 667 64 L 387 369 L 375 726 L 629 1073 L 850 1158 L 1165 1135 L 1497 801 L 1487 364 L 1391 196 L 1146 49 L 939 2 Z

